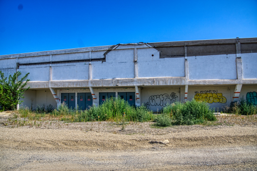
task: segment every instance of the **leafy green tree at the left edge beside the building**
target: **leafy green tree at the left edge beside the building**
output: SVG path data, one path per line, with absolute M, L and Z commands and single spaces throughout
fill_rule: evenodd
M 16 109 L 17 105 L 23 102 L 20 101 L 20 99 L 24 98 L 24 91 L 30 88 L 24 88 L 29 81 L 28 79 L 23 83 L 28 74 L 29 73 L 19 81 L 17 78 L 22 75 L 22 73 L 18 71 L 15 72 L 13 76 L 9 75 L 9 79 L 7 80 L 7 77 L 4 77 L 4 74 L 0 71 L 0 106 L 3 110 Z

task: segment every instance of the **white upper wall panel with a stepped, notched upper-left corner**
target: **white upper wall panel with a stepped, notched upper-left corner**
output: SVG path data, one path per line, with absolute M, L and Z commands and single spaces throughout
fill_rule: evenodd
M 93 79 L 134 78 L 134 49 L 112 50 L 106 62 L 92 62 Z

